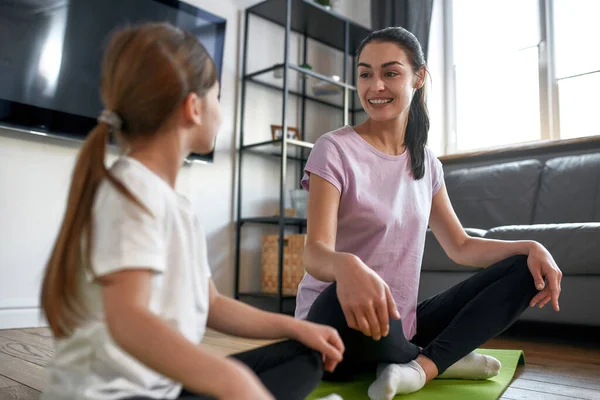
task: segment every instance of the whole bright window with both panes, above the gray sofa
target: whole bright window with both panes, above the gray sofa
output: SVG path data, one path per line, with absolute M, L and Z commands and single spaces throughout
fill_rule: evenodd
M 445 4 L 455 100 L 447 153 L 600 135 L 600 0 Z M 543 103 L 546 93 L 555 106 Z M 554 132 L 550 121 L 560 122 Z

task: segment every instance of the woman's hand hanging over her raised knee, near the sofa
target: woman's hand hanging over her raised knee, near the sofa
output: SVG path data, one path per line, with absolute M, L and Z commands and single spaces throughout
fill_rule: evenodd
M 542 308 L 552 300 L 552 307 L 558 311 L 560 309 L 558 297 L 560 296 L 562 272 L 548 250 L 541 244 L 533 242 L 527 257 L 527 265 L 533 276 L 535 287 L 540 290 L 529 305 L 533 307 L 537 304 L 539 308 Z

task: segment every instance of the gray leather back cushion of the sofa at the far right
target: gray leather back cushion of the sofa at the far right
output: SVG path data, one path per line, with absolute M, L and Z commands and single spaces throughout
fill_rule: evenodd
M 600 154 L 548 160 L 534 223 L 600 222 Z

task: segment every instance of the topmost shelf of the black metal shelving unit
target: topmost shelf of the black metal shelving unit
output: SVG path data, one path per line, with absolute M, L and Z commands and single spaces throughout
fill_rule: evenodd
M 285 26 L 286 2 L 282 0 L 266 0 L 248 9 L 248 12 Z M 348 52 L 354 54 L 361 40 L 370 30 L 343 15 L 327 10 L 325 7 L 311 0 L 292 0 L 291 30 L 306 34 L 311 39 L 317 40 L 340 51 L 344 51 L 344 28 L 349 24 Z

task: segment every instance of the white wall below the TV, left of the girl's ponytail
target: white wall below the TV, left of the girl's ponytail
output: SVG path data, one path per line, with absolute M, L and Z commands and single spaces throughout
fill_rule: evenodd
M 0 328 L 38 325 L 44 262 L 64 211 L 76 147 L 0 136 Z

